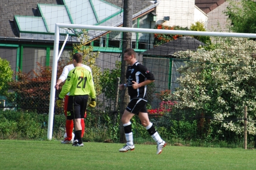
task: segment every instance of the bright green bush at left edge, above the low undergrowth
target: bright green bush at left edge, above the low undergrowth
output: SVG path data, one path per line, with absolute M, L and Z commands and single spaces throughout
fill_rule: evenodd
M 0 58 L 0 96 L 5 96 L 9 90 L 8 82 L 12 81 L 13 71 L 6 59 Z

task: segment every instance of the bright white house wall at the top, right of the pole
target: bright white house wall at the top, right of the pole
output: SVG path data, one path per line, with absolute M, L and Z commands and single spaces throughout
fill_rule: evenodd
M 190 27 L 194 23 L 195 0 L 161 0 L 157 6 L 157 22 L 165 26 Z M 169 16 L 169 21 L 163 21 Z

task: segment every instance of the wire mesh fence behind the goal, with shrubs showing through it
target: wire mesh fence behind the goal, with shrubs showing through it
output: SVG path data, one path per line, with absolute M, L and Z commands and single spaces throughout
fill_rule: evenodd
M 190 48 L 191 43 L 195 48 Z M 147 109 L 161 137 L 173 145 L 244 148 L 247 132 L 247 147 L 254 148 L 255 46 L 255 41 L 243 38 L 219 38 L 211 45 L 198 45 L 192 37 L 180 37 L 138 54 L 137 60 L 155 77 L 147 87 Z M 164 50 L 175 52 L 158 54 Z M 67 64 L 69 55 L 65 53 L 56 79 Z M 87 108 L 84 141 L 119 142 L 120 54 L 89 52 L 84 64 L 92 68 L 97 92 L 96 108 Z M 16 72 L 6 65 L 0 83 L 0 138 L 46 138 L 51 67 L 38 62 L 33 71 Z M 54 114 L 53 138 L 62 139 L 63 108 L 55 105 Z M 135 143 L 153 142 L 137 117 L 132 119 L 132 127 Z

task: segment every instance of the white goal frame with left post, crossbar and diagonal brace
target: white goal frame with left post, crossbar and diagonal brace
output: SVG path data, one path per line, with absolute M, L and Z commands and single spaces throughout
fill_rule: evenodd
M 54 105 L 55 105 L 55 84 L 57 76 L 57 65 L 59 59 L 59 35 L 60 28 L 71 28 L 71 29 L 86 29 L 96 31 L 119 31 L 119 32 L 137 32 L 137 33 L 149 33 L 149 34 L 178 34 L 178 35 L 193 35 L 193 36 L 211 36 L 211 37 L 240 37 L 240 38 L 256 38 L 256 34 L 246 33 L 230 33 L 230 32 L 209 32 L 209 31 L 181 31 L 181 30 L 163 30 L 163 29 L 146 29 L 146 28 L 123 28 L 123 27 L 111 27 L 111 26 L 89 26 L 89 25 L 77 25 L 77 24 L 55 24 L 55 36 L 54 36 L 54 49 L 53 49 L 53 61 L 52 61 L 52 79 L 51 79 L 51 92 L 50 92 L 50 103 L 49 103 L 49 118 L 48 118 L 48 131 L 47 139 L 52 139 L 52 127 L 53 127 L 53 116 L 54 116 Z M 67 33 L 68 37 L 68 33 Z M 65 42 L 61 48 L 64 48 Z

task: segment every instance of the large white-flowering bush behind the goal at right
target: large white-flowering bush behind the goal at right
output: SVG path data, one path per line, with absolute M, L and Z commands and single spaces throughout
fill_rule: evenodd
M 174 96 L 179 110 L 210 119 L 217 133 L 243 134 L 247 105 L 248 133 L 256 134 L 256 42 L 227 38 L 213 50 L 180 51 L 177 58 L 189 59 L 179 68 L 180 87 Z M 217 128 L 216 128 L 217 129 Z

